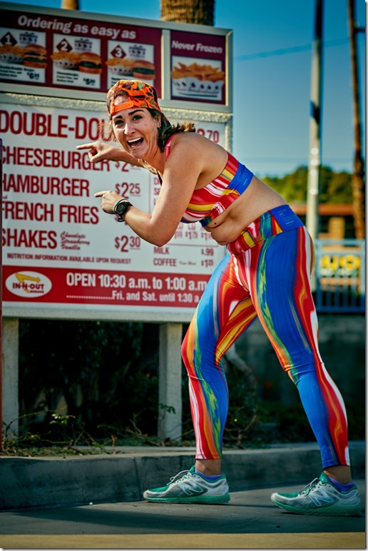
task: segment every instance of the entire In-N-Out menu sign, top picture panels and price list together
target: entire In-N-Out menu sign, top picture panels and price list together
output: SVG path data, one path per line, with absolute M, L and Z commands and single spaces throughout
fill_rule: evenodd
M 76 145 L 111 139 L 104 99 L 123 78 L 227 146 L 231 31 L 1 3 L 0 21 L 4 315 L 188 320 L 225 249 L 198 223 L 165 247 L 142 241 L 94 193 L 151 212 L 158 179 Z

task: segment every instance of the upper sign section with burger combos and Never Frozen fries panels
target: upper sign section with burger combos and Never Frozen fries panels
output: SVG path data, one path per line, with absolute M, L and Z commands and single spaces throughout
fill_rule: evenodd
M 6 90 L 102 99 L 118 79 L 141 79 L 163 105 L 230 111 L 231 31 L 1 3 L 0 21 Z

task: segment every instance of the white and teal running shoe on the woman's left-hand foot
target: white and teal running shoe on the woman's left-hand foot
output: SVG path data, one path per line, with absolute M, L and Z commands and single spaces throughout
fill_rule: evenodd
M 172 477 L 168 485 L 145 490 L 143 497 L 147 501 L 164 503 L 203 503 L 208 505 L 227 503 L 230 501 L 228 482 L 225 475 L 216 480 L 206 480 L 195 472 L 183 470 Z

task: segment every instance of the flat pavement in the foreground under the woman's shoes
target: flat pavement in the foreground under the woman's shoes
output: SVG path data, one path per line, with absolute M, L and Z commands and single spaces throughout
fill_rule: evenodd
M 288 515 L 275 491 L 231 492 L 225 505 L 109 502 L 0 512 L 4 549 L 366 549 L 365 481 L 359 517 Z

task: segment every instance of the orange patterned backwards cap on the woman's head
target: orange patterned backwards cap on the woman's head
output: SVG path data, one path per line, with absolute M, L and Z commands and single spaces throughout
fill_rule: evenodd
M 114 100 L 119 95 L 119 91 L 126 92 L 128 101 L 115 105 Z M 158 106 L 157 93 L 153 86 L 145 84 L 142 81 L 118 81 L 108 91 L 106 96 L 106 104 L 108 108 L 108 114 L 110 118 L 113 117 L 118 111 L 123 109 L 130 109 L 132 107 L 156 109 L 161 111 Z

